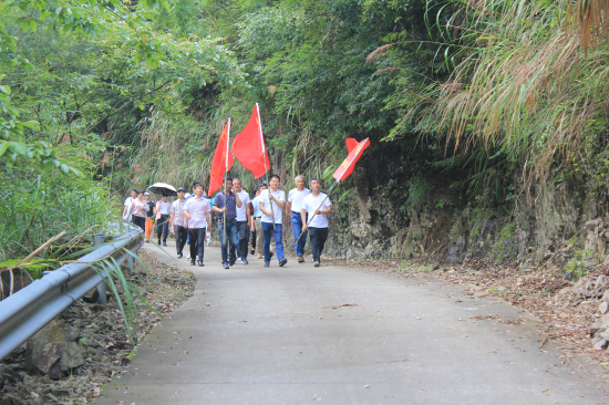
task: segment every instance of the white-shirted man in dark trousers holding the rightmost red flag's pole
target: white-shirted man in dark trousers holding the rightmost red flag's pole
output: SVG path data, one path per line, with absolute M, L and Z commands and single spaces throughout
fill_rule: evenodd
M 320 185 L 317 178 L 309 180 L 311 194 L 302 200 L 302 231 L 307 230 L 307 215 L 311 218 L 309 224 L 309 238 L 311 240 L 311 251 L 313 252 L 314 267 L 321 262 L 321 252 L 328 239 L 328 214 L 332 212 L 332 202 L 328 195 L 320 193 Z M 314 215 L 314 217 L 313 217 Z

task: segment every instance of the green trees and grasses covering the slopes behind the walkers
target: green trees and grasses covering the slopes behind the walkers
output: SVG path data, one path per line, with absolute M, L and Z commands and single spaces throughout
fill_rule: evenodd
M 365 181 L 358 194 L 355 176 L 344 181 L 337 202 L 357 207 L 370 194 L 373 219 L 393 216 L 396 227 L 429 204 L 467 207 L 476 236 L 483 212 L 509 212 L 547 184 L 578 188 L 587 176 L 600 196 L 601 9 L 598 0 L 4 1 L 0 260 L 63 229 L 110 229 L 117 191 L 206 183 L 226 120 L 236 135 L 255 102 L 272 172 L 285 178 L 330 183 L 343 139 L 370 137 Z M 233 172 L 256 183 L 238 164 Z M 514 232 L 508 224 L 499 239 Z

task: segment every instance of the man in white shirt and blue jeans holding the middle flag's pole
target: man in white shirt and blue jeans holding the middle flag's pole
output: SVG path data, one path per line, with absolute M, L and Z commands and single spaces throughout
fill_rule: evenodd
M 286 207 L 286 193 L 279 189 L 280 178 L 277 175 L 270 178 L 270 188 L 260 193 L 260 210 L 262 217 L 262 235 L 265 246 L 265 267 L 270 264 L 270 238 L 275 237 L 275 251 L 277 259 L 279 259 L 279 267 L 286 266 L 288 259 L 283 256 L 283 235 L 281 232 L 282 227 L 282 214 Z

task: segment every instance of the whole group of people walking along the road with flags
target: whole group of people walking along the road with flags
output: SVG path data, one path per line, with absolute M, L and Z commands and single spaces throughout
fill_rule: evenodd
M 296 188 L 286 193 L 281 190 L 280 177 L 273 175 L 269 184 L 260 184 L 255 190 L 255 198 L 242 187 L 241 179 L 228 177 L 225 188 L 211 200 L 205 196 L 200 183 L 193 186 L 193 195 L 186 198 L 183 187 L 177 189 L 177 199 L 167 201 L 167 196 L 156 204 L 149 199 L 149 194 L 143 190 L 132 190 L 132 196 L 125 200 L 123 217 L 146 231 L 149 239 L 153 221 L 156 219 L 158 245 L 163 237 L 163 246 L 167 246 L 168 231 L 175 235 L 177 258 L 183 258 L 183 250 L 189 242 L 190 264 L 204 266 L 205 239 L 211 227 L 211 212 L 217 218 L 217 227 L 221 243 L 221 261 L 224 269 L 229 269 L 237 260 L 248 263 L 248 245 L 251 237 L 250 255 L 258 253 L 264 259 L 265 267 L 270 266 L 273 257 L 271 242 L 275 242 L 275 255 L 279 267 L 286 266 L 283 250 L 283 215 L 291 221 L 295 237 L 295 250 L 299 263 L 304 262 L 304 245 L 307 237 L 313 263 L 319 267 L 321 252 L 328 239 L 328 215 L 332 204 L 328 195 L 321 193 L 317 178 L 309 180 L 304 187 L 304 177 L 295 178 Z M 149 225 L 148 225 L 149 224 Z

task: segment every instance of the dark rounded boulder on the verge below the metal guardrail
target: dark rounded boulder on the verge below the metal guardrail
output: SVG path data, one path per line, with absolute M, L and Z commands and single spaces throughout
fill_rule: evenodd
M 51 378 L 83 364 L 84 353 L 76 343 L 79 331 L 54 320 L 33 335 L 25 345 L 25 367 Z

